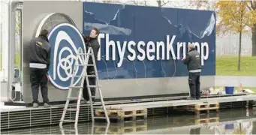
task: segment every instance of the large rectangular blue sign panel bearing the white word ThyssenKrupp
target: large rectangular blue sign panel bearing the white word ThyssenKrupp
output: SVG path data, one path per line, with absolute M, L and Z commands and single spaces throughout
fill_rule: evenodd
M 131 5 L 83 4 L 83 33 L 99 28 L 102 80 L 185 77 L 188 43 L 201 54 L 202 75 L 215 75 L 215 13 Z

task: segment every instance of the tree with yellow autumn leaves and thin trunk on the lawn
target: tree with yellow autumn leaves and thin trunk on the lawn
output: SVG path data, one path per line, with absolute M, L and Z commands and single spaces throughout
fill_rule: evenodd
M 242 33 L 248 32 L 245 27 L 249 25 L 252 14 L 248 12 L 246 1 L 218 1 L 215 7 L 218 16 L 221 18 L 217 27 L 218 32 L 239 33 L 237 70 L 240 71 Z

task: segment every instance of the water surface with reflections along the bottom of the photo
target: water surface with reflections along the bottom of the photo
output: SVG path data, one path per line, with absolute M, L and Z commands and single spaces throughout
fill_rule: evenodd
M 154 116 L 122 123 L 64 124 L 63 127 L 34 127 L 4 130 L 1 134 L 256 134 L 256 118 L 245 110 L 221 111 L 202 118 L 194 115 Z

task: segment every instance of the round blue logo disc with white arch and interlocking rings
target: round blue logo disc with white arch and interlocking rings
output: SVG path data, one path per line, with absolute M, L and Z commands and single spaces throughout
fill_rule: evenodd
M 58 89 L 69 89 L 74 70 L 77 49 L 86 51 L 86 44 L 80 31 L 68 23 L 55 26 L 48 36 L 51 45 L 49 76 L 50 82 Z M 79 63 L 83 62 L 79 58 Z M 75 74 L 81 75 L 82 66 L 77 66 Z M 74 78 L 74 84 L 79 83 L 80 77 Z

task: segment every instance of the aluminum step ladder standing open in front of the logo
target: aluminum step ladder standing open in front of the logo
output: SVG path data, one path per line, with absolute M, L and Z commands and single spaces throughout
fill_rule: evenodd
M 89 64 L 89 57 L 92 57 L 92 64 Z M 84 60 L 85 58 L 85 60 Z M 81 62 L 79 62 L 79 60 Z M 83 61 L 84 60 L 84 61 Z M 87 74 L 87 68 L 89 66 L 93 66 L 94 67 L 94 71 L 95 71 L 95 75 L 88 75 Z M 77 75 L 76 74 L 76 70 L 79 69 L 79 67 L 83 67 L 83 71 L 81 75 Z M 74 78 L 79 77 L 80 79 L 82 78 L 82 80 L 80 80 L 80 85 L 76 86 L 74 85 Z M 95 81 L 96 84 L 95 86 L 91 86 L 89 85 L 89 77 L 95 77 Z M 95 122 L 95 119 L 106 119 L 107 123 L 110 123 L 110 118 L 107 115 L 107 110 L 104 104 L 104 100 L 103 100 L 103 96 L 101 93 L 101 88 L 99 85 L 99 79 L 98 79 L 98 71 L 97 71 L 97 67 L 96 67 L 96 62 L 95 62 L 95 57 L 94 57 L 94 53 L 92 50 L 92 47 L 89 47 L 89 50 L 87 53 L 83 53 L 82 49 L 78 49 L 77 50 L 77 56 L 76 56 L 76 60 L 75 60 L 75 65 L 74 65 L 74 70 L 73 70 L 73 75 L 71 78 L 71 86 L 68 90 L 68 98 L 65 104 L 65 108 L 63 110 L 62 113 L 62 118 L 60 120 L 59 126 L 62 127 L 62 124 L 64 121 L 66 122 L 75 122 L 74 126 L 77 127 L 77 123 L 78 123 L 78 118 L 79 118 L 79 111 L 80 111 L 80 102 L 81 102 L 81 98 L 82 98 L 82 93 L 83 93 L 83 84 L 84 84 L 84 80 L 86 80 L 86 84 L 87 84 L 87 91 L 89 93 L 89 101 L 90 101 L 90 108 L 91 108 L 91 115 L 92 115 L 92 122 Z M 79 83 L 77 83 L 79 84 Z M 95 107 L 95 104 L 92 103 L 92 98 L 96 98 L 95 96 L 92 96 L 92 92 L 91 92 L 91 88 L 95 88 L 95 93 L 99 92 L 100 95 L 100 100 L 101 100 L 101 107 Z M 71 97 L 71 93 L 73 90 L 79 90 L 79 94 L 77 98 Z M 77 108 L 76 109 L 68 109 L 68 104 L 71 100 L 77 100 Z M 103 117 L 95 117 L 94 114 L 94 110 L 95 109 L 103 109 L 104 110 L 104 116 Z M 65 119 L 65 115 L 67 113 L 67 110 L 69 111 L 76 111 L 76 117 L 74 120 L 66 120 Z

